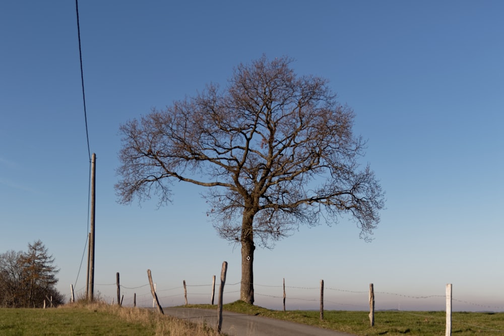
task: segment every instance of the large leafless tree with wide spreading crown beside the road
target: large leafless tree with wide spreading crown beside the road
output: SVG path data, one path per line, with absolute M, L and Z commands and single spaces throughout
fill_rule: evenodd
M 173 181 L 209 187 L 205 197 L 219 235 L 241 244 L 241 300 L 254 303 L 255 242 L 271 247 L 299 225 L 353 218 L 369 239 L 384 193 L 364 141 L 352 133 L 353 111 L 328 81 L 297 76 L 288 57 L 238 65 L 221 90 L 153 109 L 120 126 L 122 203 L 171 200 Z

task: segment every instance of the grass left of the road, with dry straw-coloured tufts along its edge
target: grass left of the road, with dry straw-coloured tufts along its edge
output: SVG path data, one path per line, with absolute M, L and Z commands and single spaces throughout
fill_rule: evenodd
M 103 303 L 56 309 L 0 308 L 0 335 L 216 335 L 196 325 L 147 309 Z

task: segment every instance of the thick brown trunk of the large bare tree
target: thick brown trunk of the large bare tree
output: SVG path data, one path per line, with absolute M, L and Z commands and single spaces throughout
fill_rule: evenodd
M 254 304 L 254 211 L 245 210 L 241 226 L 241 289 L 240 300 Z

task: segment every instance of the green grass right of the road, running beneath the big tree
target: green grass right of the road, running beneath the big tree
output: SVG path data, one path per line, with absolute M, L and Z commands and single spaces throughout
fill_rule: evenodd
M 192 305 L 195 308 L 215 309 L 211 305 Z M 253 306 L 236 301 L 225 304 L 224 310 L 277 318 L 327 329 L 333 329 L 359 336 L 372 335 L 445 335 L 446 313 L 444 311 L 377 311 L 374 326 L 369 325 L 369 312 L 364 311 L 324 311 L 320 320 L 319 311 L 279 311 Z M 504 313 L 454 312 L 452 315 L 453 335 L 504 335 Z

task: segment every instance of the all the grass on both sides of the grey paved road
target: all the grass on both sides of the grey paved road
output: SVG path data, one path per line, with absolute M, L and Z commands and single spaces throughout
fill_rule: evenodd
M 186 307 L 216 309 L 210 305 Z M 445 312 L 378 311 L 375 325 L 369 326 L 363 311 L 276 311 L 236 301 L 224 305 L 228 311 L 278 318 L 356 335 L 444 335 Z M 504 334 L 504 313 L 454 312 L 454 335 Z M 56 309 L 0 309 L 0 335 L 216 335 L 206 325 L 195 325 L 139 308 L 67 305 Z

